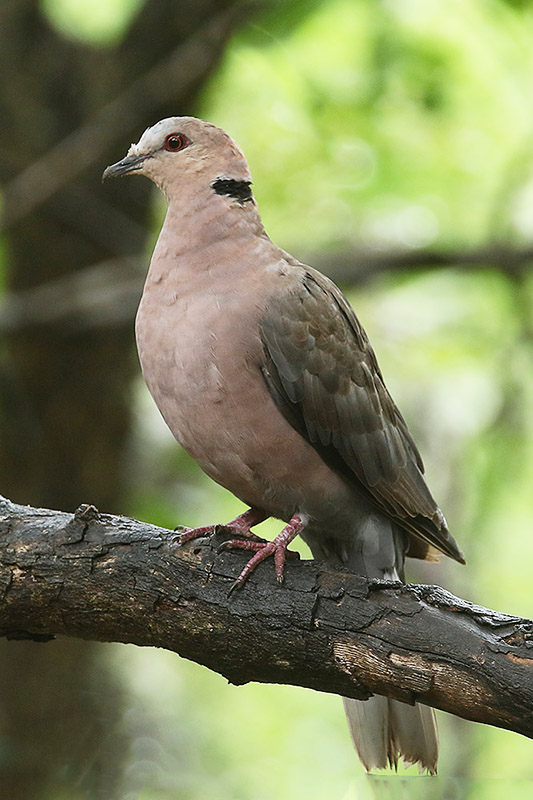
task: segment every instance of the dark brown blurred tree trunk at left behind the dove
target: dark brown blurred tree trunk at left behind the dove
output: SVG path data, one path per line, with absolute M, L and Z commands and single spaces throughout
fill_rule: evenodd
M 3 4 L 0 180 L 8 289 L 61 280 L 143 249 L 148 182 L 117 181 L 103 193 L 102 169 L 146 126 L 191 112 L 241 20 L 237 2 L 148 0 L 120 44 L 95 48 L 58 33 L 37 0 Z M 67 137 L 70 147 L 47 160 Z M 2 493 L 53 508 L 90 501 L 123 510 L 137 373 L 131 326 L 26 320 L 0 357 Z M 106 671 L 106 652 L 76 641 L 1 642 L 2 797 L 115 796 L 127 741 L 118 732 L 124 697 Z

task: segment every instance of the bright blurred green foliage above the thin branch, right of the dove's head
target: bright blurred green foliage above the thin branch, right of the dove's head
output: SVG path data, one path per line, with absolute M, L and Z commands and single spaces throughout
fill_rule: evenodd
M 202 113 L 289 248 L 475 242 L 531 138 L 531 32 L 496 2 L 332 0 L 290 37 L 243 34 Z

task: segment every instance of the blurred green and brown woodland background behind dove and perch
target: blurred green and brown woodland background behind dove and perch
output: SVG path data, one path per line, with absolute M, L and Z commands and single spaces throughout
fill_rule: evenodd
M 532 616 L 529 0 L 2 0 L 2 494 L 167 527 L 242 508 L 140 379 L 164 204 L 148 181 L 100 184 L 175 114 L 233 135 L 271 237 L 365 325 L 468 560 L 411 580 Z M 337 697 L 228 686 L 159 650 L 2 641 L 0 797 L 531 797 L 530 741 L 438 716 L 438 779 L 367 778 Z

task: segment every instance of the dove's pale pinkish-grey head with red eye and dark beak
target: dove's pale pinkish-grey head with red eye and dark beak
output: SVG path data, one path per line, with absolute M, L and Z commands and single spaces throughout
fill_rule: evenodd
M 248 164 L 233 139 L 195 117 L 169 117 L 147 128 L 121 161 L 107 167 L 102 180 L 130 174 L 146 175 L 169 198 L 199 178 L 218 194 L 230 194 L 221 190 L 229 184 L 241 201 L 252 196 Z

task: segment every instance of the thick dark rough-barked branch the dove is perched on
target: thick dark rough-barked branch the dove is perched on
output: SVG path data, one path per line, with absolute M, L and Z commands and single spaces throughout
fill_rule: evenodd
M 415 700 L 533 738 L 533 622 L 454 597 L 289 563 L 228 597 L 242 553 L 81 506 L 0 500 L 0 635 L 154 645 L 232 683 Z

